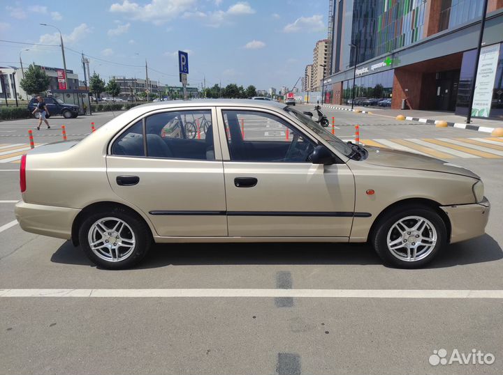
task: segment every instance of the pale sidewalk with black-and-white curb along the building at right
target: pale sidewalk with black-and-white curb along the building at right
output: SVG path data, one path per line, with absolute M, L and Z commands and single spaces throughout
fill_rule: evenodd
M 351 111 L 351 106 L 348 105 L 323 105 L 324 107 L 333 109 L 342 109 Z M 463 128 L 471 130 L 479 130 L 481 132 L 492 132 L 495 128 L 503 128 L 503 121 L 486 120 L 482 118 L 472 118 L 472 122 L 467 125 L 466 117 L 456 116 L 453 112 L 437 112 L 437 111 L 420 111 L 416 109 L 390 109 L 386 107 L 354 107 L 354 110 L 359 110 L 365 114 L 369 112 L 377 116 L 389 116 L 395 118 L 402 114 L 407 120 L 420 121 L 424 123 L 435 123 L 435 121 L 446 121 L 448 126 L 454 128 Z

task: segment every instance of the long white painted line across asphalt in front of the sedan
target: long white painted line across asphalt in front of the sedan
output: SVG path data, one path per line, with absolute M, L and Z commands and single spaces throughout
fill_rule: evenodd
M 503 290 L 456 289 L 0 289 L 0 297 L 87 298 L 495 298 Z

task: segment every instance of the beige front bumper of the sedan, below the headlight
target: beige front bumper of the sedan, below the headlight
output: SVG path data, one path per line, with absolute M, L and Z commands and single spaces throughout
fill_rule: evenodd
M 486 233 L 490 203 L 486 197 L 479 204 L 441 206 L 451 221 L 451 243 L 482 236 Z

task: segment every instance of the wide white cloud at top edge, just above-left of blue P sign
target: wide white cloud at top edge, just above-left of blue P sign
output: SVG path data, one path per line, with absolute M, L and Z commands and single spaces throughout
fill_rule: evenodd
M 113 3 L 110 6 L 110 12 L 124 13 L 133 20 L 162 24 L 182 15 L 195 6 L 196 0 L 152 0 L 145 6 L 123 0 L 122 3 Z

